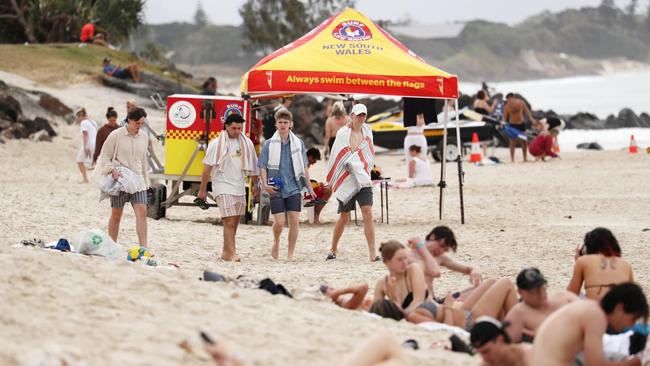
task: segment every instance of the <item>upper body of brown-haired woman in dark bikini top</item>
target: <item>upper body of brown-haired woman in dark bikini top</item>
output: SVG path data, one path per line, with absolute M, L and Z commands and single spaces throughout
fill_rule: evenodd
M 428 311 L 435 307 L 424 282 L 422 267 L 408 263 L 408 250 L 402 243 L 384 242 L 379 252 L 388 275 L 377 280 L 370 312 L 395 320 L 410 320 L 410 314 L 416 309 L 422 307 Z

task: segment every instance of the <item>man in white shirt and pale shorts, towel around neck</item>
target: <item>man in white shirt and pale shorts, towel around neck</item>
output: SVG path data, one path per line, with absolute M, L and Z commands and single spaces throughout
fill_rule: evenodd
M 212 194 L 223 220 L 221 259 L 237 261 L 235 235 L 241 215 L 246 211 L 245 176 L 257 180 L 257 155 L 253 142 L 242 133 L 244 118 L 232 113 L 224 122 L 224 131 L 208 144 L 203 159 L 203 174 L 198 198 L 205 200 L 208 178 L 212 177 Z M 253 185 L 256 186 L 256 185 Z M 254 194 L 253 194 L 254 195 Z

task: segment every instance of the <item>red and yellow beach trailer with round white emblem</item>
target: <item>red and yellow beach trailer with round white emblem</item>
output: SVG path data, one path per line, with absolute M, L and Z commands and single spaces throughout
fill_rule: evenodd
M 155 220 L 165 217 L 171 206 L 196 206 L 179 200 L 197 195 L 205 151 L 208 143 L 223 131 L 226 117 L 241 114 L 246 120 L 244 132 L 250 136 L 250 103 L 242 98 L 174 94 L 167 98 L 165 112 L 165 164 L 162 171 L 150 175 L 158 183 L 152 184 L 147 214 Z M 210 182 L 208 191 L 209 186 Z

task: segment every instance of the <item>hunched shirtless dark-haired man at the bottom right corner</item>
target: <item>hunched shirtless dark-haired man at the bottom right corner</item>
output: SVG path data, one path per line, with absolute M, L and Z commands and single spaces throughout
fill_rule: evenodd
M 533 344 L 533 364 L 570 366 L 582 353 L 583 364 L 589 366 L 641 365 L 638 357 L 605 360 L 603 334 L 608 327 L 620 332 L 638 319 L 647 321 L 647 318 L 645 294 L 632 282 L 612 288 L 600 303 L 593 300 L 572 302 L 551 314 L 539 327 Z

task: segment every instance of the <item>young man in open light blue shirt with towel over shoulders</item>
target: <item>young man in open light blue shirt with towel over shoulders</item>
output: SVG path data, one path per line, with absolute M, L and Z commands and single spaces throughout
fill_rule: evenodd
M 307 189 L 315 197 L 309 183 L 307 153 L 304 142 L 293 132 L 293 115 L 286 108 L 275 113 L 276 132 L 264 142 L 257 166 L 260 168 L 262 187 L 271 195 L 273 214 L 273 248 L 271 256 L 278 259 L 280 235 L 284 227 L 285 212 L 289 218 L 289 249 L 287 258 L 293 259 L 298 240 L 298 214 L 301 192 Z

